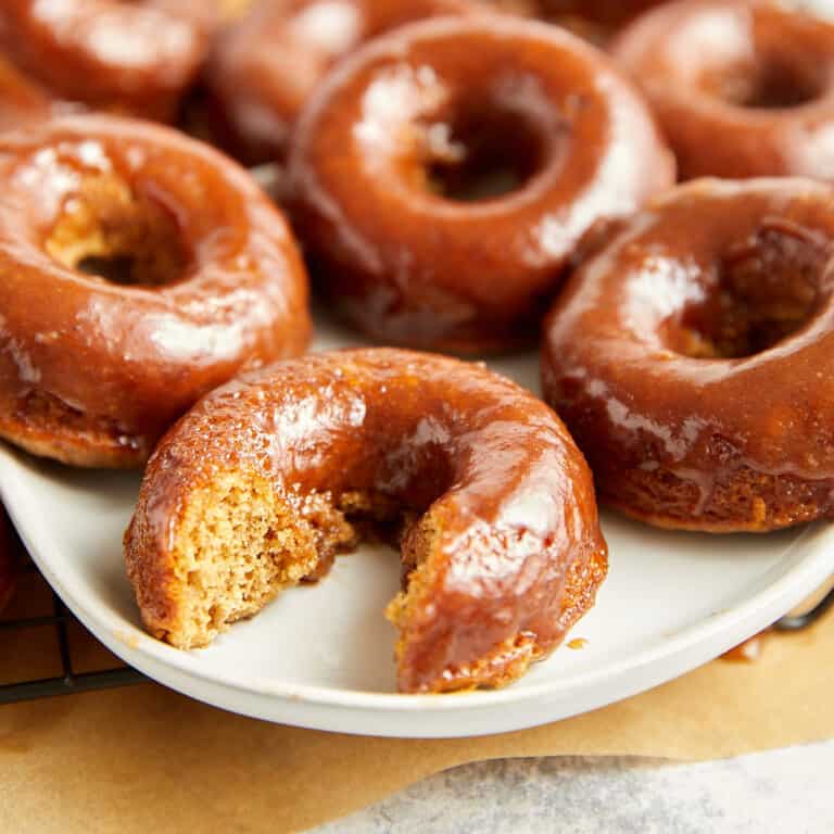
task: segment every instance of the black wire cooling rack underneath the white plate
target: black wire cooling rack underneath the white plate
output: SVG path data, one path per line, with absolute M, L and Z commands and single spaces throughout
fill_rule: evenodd
M 2 511 L 2 510 L 0 510 Z M 11 526 L 10 526 L 11 527 Z M 40 577 L 37 568 L 25 553 L 23 545 L 14 532 L 10 533 L 11 546 L 21 555 L 23 571 L 34 574 L 37 581 L 46 585 L 46 580 Z M 58 695 L 72 695 L 79 692 L 93 690 L 106 690 L 116 686 L 128 686 L 142 683 L 148 679 L 128 666 L 112 669 L 78 672 L 73 666 L 73 657 L 70 646 L 68 629 L 73 621 L 73 615 L 61 602 L 54 591 L 51 594 L 51 612 L 37 617 L 25 617 L 0 620 L 0 642 L 10 640 L 13 634 L 18 640 L 25 641 L 27 633 L 35 629 L 47 628 L 52 632 L 52 650 L 54 657 L 60 659 L 61 674 L 38 680 L 24 680 L 4 682 L 0 681 L 0 705 L 13 704 L 22 700 L 35 700 L 37 698 L 51 698 Z M 797 632 L 812 626 L 826 611 L 834 607 L 834 589 L 809 611 L 800 615 L 788 615 L 774 624 L 776 631 Z

